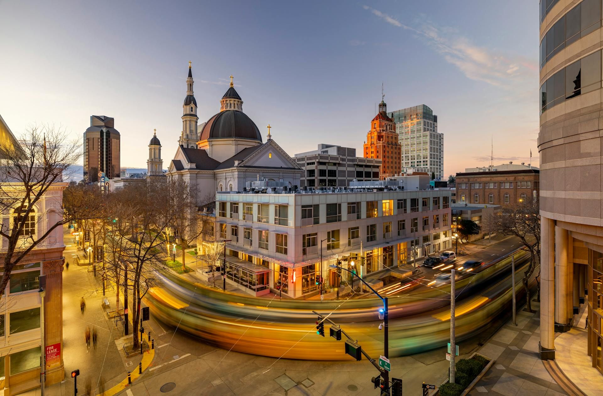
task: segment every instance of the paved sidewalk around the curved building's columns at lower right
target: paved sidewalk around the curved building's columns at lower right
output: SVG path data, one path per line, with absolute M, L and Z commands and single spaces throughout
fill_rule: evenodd
M 538 302 L 532 302 L 532 309 L 538 310 L 539 307 Z M 582 307 L 579 314 L 578 328 L 557 334 L 555 362 L 582 392 L 594 396 L 601 395 L 603 376 L 591 367 L 590 357 L 586 355 L 586 332 L 580 330 L 584 328 L 585 308 Z M 485 357 L 496 359 L 496 362 L 469 395 L 567 395 L 540 360 L 539 340 L 540 313 L 519 310 L 517 326 L 509 321 L 478 351 Z

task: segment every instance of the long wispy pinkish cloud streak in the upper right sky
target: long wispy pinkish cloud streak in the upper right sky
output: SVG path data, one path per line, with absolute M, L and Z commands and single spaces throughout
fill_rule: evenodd
M 413 27 L 368 5 L 363 5 L 362 8 L 390 25 L 411 31 L 471 80 L 513 90 L 518 81 L 535 78 L 537 74 L 538 68 L 533 62 L 475 45 L 459 34 L 456 28 L 440 27 L 429 21 L 420 21 Z

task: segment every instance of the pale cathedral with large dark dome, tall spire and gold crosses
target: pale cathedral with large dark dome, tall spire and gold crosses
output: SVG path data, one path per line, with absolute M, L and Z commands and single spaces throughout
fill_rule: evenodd
M 167 176 L 180 177 L 194 187 L 199 206 L 213 202 L 216 191 L 242 191 L 246 182 L 255 180 L 283 182 L 289 187 L 300 185 L 303 170 L 271 138 L 270 129 L 264 142 L 256 124 L 243 112 L 243 100 L 232 78 L 219 101 L 219 112 L 198 125 L 189 62 L 182 133 Z M 156 141 L 159 143 L 159 139 Z M 151 145 L 149 148 L 151 156 Z M 150 158 L 148 164 L 151 162 Z

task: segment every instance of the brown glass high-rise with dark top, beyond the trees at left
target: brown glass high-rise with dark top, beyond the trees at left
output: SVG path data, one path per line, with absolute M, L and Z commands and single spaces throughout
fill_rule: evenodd
M 109 179 L 119 177 L 119 139 L 112 117 L 90 116 L 90 127 L 84 132 L 84 182 L 98 182 L 101 172 Z

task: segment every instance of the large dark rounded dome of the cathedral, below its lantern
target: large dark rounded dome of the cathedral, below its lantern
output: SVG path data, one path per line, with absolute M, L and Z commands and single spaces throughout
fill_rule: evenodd
M 239 110 L 224 110 L 217 113 L 207 120 L 200 136 L 200 140 L 232 138 L 262 141 L 262 135 L 256 124 Z

